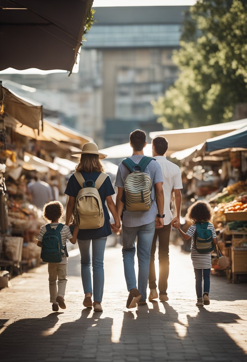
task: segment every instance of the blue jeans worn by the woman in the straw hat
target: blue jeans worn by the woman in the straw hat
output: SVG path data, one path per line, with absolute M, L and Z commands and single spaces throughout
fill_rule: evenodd
M 104 290 L 104 252 L 107 237 L 92 240 L 92 270 L 93 270 L 93 289 L 91 278 L 91 240 L 79 240 L 78 246 L 81 253 L 81 276 L 84 293 L 93 294 L 94 301 L 102 302 Z

